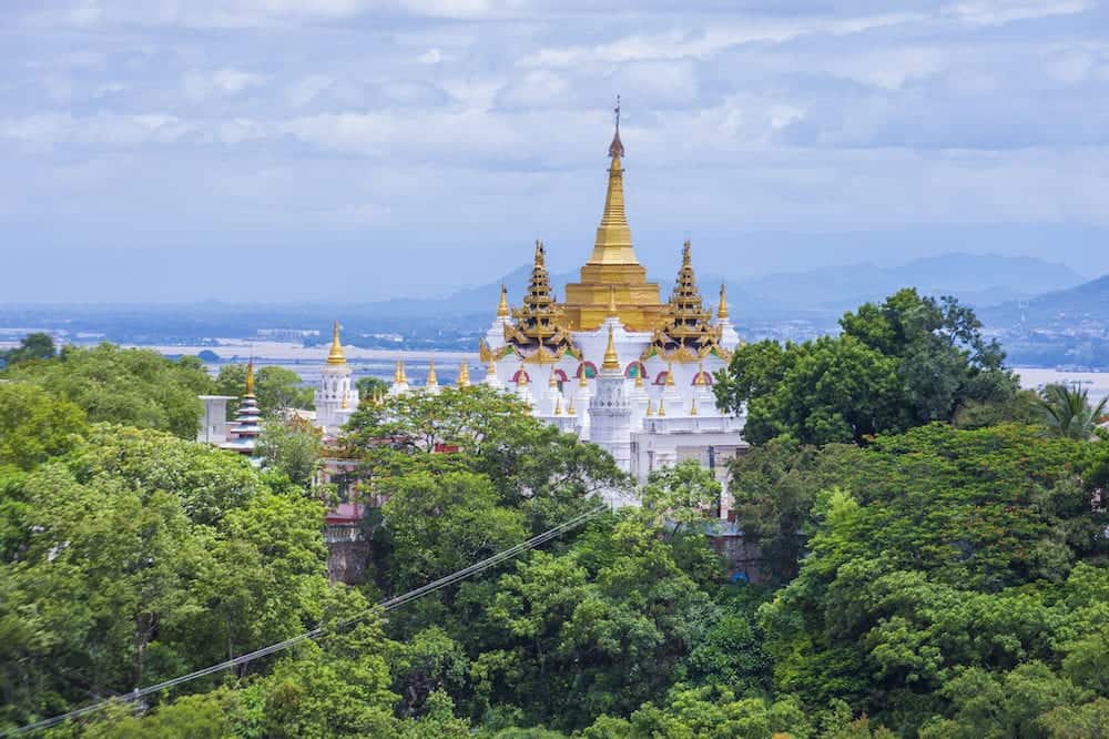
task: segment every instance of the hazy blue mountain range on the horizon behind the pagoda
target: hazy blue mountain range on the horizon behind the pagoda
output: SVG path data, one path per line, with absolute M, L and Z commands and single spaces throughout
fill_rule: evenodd
M 369 303 L 365 310 L 378 317 L 431 317 L 435 315 L 489 316 L 497 305 L 500 285 L 519 304 L 528 284 L 531 266 L 521 266 L 489 284 L 458 291 L 444 298 L 405 298 Z M 698 275 L 701 292 L 710 304 L 716 303 L 720 275 Z M 662 298 L 670 294 L 673 277 L 652 279 L 662 287 Z M 558 295 L 578 273 L 551 275 Z M 1080 285 L 1083 277 L 1054 262 L 1025 256 L 996 254 L 946 254 L 919 259 L 896 267 L 852 264 L 806 272 L 774 273 L 749 280 L 724 279 L 733 314 L 766 320 L 798 315 L 837 317 L 866 301 L 881 301 L 902 287 L 915 286 L 927 295 L 955 295 L 964 303 L 984 307 L 1026 301 L 1049 291 Z

